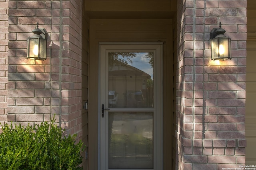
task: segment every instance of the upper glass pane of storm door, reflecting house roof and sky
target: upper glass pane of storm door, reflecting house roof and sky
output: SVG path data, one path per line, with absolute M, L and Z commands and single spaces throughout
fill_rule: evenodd
M 109 107 L 153 107 L 154 53 L 108 53 Z

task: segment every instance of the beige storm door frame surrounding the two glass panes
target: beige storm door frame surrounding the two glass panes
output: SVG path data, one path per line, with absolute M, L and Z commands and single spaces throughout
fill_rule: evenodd
M 103 87 L 102 83 L 106 82 L 108 78 L 108 63 L 106 62 L 106 54 L 108 52 L 115 52 L 117 50 L 130 50 L 130 51 L 147 51 L 155 52 L 154 55 L 154 108 L 148 108 L 148 111 L 154 111 L 154 170 L 162 170 L 163 168 L 163 70 L 162 70 L 162 58 L 163 58 L 163 43 L 162 42 L 141 42 L 141 43 L 99 43 L 99 101 L 98 101 L 98 170 L 109 170 L 108 159 L 106 150 L 108 148 L 108 140 L 102 142 L 107 138 L 106 119 L 108 118 L 108 111 L 105 111 L 105 117 L 101 116 L 101 105 L 105 104 L 105 108 L 108 108 L 107 90 L 108 85 Z M 104 90 L 105 89 L 105 90 Z M 104 93 L 103 93 L 104 91 Z M 135 111 L 135 108 L 125 108 L 125 111 Z M 138 109 L 136 109 L 137 111 Z M 111 111 L 124 111 L 124 108 L 111 108 Z M 147 111 L 143 109 L 143 111 Z M 159 114 L 160 112 L 160 114 Z M 156 114 L 158 113 L 158 114 Z M 118 169 L 115 169 L 118 170 Z M 134 169 L 136 170 L 136 169 Z M 139 169 L 146 170 L 146 169 Z M 152 170 L 152 169 L 150 169 Z

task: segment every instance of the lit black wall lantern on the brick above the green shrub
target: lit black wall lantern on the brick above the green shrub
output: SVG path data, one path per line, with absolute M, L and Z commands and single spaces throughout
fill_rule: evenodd
M 34 35 L 27 39 L 27 59 L 46 60 L 46 44 L 48 33 L 46 29 L 36 29 L 32 31 Z

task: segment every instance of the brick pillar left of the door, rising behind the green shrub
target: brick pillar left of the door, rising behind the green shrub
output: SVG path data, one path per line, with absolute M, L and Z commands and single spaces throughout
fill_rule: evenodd
M 10 0 L 8 6 L 7 121 L 26 125 L 56 114 L 67 133 L 81 137 L 82 0 Z M 49 34 L 45 61 L 26 59 L 36 22 Z

